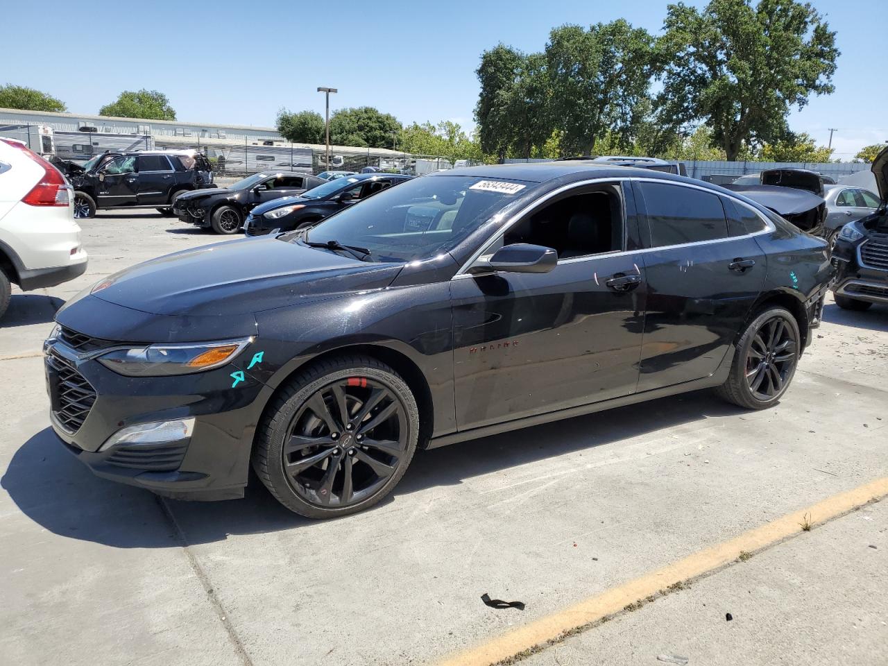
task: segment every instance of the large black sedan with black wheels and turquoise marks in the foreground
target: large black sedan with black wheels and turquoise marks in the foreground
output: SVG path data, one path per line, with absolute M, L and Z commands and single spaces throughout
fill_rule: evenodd
M 771 407 L 832 276 L 826 242 L 700 181 L 450 170 L 68 301 L 52 427 L 107 479 L 220 499 L 252 464 L 290 510 L 339 516 L 416 448 L 706 387 Z

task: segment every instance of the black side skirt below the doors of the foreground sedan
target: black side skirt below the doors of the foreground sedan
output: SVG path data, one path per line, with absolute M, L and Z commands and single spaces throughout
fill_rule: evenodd
M 514 421 L 504 421 L 500 424 L 485 425 L 483 428 L 472 428 L 472 430 L 454 432 L 449 435 L 432 438 L 424 448 L 446 447 L 448 444 L 456 444 L 456 442 L 459 441 L 477 440 L 481 437 L 489 437 L 490 435 L 497 435 L 501 432 L 510 432 L 512 430 L 528 428 L 532 425 L 560 421 L 563 418 L 594 414 L 595 412 L 605 411 L 606 409 L 634 405 L 638 402 L 645 402 L 646 400 L 656 400 L 657 398 L 666 398 L 670 395 L 677 395 L 678 393 L 698 391 L 704 388 L 720 386 L 725 383 L 728 374 L 731 372 L 734 353 L 736 353 L 736 347 L 732 346 L 731 349 L 728 350 L 728 353 L 725 354 L 725 358 L 722 360 L 721 365 L 718 366 L 718 369 L 712 375 L 709 377 L 703 377 L 702 379 L 694 379 L 693 382 L 664 386 L 650 391 L 631 393 L 630 395 L 624 395 L 620 398 L 612 398 L 611 400 L 602 400 L 600 402 L 592 402 L 588 405 L 580 405 L 579 407 L 559 409 L 558 411 L 547 412 L 546 414 L 525 416 L 524 418 L 518 418 Z

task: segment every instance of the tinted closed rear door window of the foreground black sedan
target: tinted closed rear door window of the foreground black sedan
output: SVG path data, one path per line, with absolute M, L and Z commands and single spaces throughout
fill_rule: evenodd
M 645 202 L 651 247 L 725 238 L 727 222 L 718 194 L 667 183 L 638 183 Z

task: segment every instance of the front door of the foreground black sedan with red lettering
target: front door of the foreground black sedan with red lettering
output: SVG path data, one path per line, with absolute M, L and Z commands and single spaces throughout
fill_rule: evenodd
M 511 226 L 494 245 L 558 250 L 547 274 L 451 281 L 456 420 L 468 430 L 635 391 L 645 316 L 631 193 L 585 186 Z

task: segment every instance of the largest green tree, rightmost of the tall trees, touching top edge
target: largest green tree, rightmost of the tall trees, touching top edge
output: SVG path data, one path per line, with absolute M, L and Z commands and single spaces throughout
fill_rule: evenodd
M 702 12 L 670 4 L 663 27 L 659 117 L 706 123 L 728 160 L 744 145 L 783 139 L 789 107 L 834 90 L 836 33 L 811 4 L 711 0 Z

